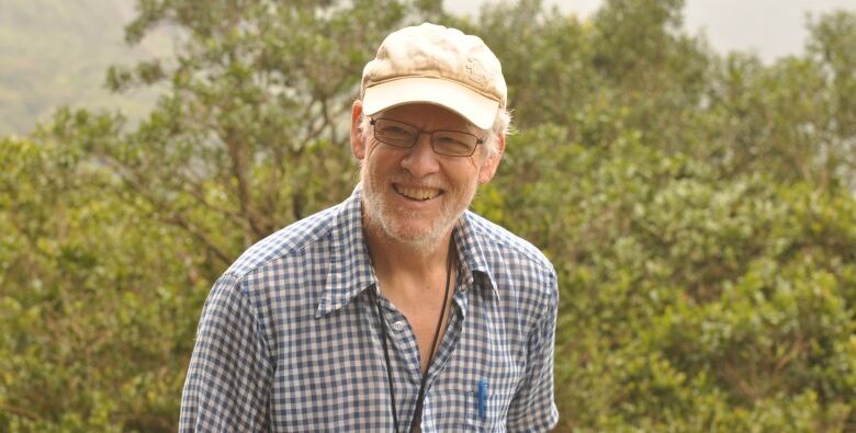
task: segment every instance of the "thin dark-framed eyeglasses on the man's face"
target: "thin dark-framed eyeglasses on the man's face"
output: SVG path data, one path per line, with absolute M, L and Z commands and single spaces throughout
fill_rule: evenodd
M 419 130 L 416 126 L 388 118 L 372 118 L 374 138 L 384 145 L 412 148 L 419 140 L 421 134 L 431 135 L 431 149 L 436 153 L 448 157 L 469 157 L 475 152 L 475 148 L 484 143 L 470 133 L 459 130 Z

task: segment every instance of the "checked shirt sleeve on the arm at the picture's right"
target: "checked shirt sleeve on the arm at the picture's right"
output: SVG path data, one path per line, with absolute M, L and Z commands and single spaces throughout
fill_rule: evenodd
M 559 422 L 553 397 L 553 347 L 559 309 L 554 273 L 551 273 L 550 285 L 544 314 L 529 334 L 526 376 L 508 408 L 509 432 L 543 432 Z

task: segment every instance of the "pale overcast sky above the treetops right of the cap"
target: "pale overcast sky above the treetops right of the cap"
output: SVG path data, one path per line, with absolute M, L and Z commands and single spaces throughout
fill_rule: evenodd
M 446 0 L 448 10 L 476 13 L 492 0 Z M 806 14 L 818 16 L 835 9 L 856 10 L 856 0 L 685 0 L 684 26 L 690 34 L 703 32 L 720 53 L 757 54 L 765 61 L 800 55 L 808 35 Z M 587 16 L 602 0 L 545 0 L 564 12 Z

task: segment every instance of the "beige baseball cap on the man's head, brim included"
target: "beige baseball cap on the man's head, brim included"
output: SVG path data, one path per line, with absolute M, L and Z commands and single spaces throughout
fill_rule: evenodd
M 488 129 L 507 89 L 503 67 L 477 36 L 425 23 L 386 36 L 362 71 L 362 112 L 373 115 L 396 105 L 443 106 Z

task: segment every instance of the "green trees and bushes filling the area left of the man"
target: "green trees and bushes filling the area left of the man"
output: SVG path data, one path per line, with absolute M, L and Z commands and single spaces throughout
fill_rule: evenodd
M 369 47 L 437 4 L 139 1 L 129 42 L 187 34 L 174 60 L 110 70 L 168 87 L 149 117 L 61 110 L 1 144 L 0 430 L 174 431 L 212 282 L 348 194 Z

